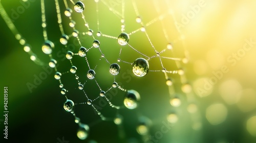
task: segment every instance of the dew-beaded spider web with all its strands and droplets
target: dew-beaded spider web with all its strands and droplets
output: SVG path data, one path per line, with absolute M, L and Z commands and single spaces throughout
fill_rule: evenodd
M 0 1 L 1 2 L 1 1 Z M 60 28 L 60 32 L 62 34 L 62 37 L 60 38 L 60 43 L 62 43 L 65 47 L 67 47 L 67 43 L 68 43 L 68 40 L 71 36 L 73 37 L 76 37 L 77 40 L 78 40 L 78 43 L 80 44 L 80 49 L 79 49 L 79 52 L 74 54 L 73 52 L 71 51 L 68 51 L 66 57 L 67 59 L 70 61 L 71 63 L 71 69 L 70 69 L 70 73 L 73 73 L 75 74 L 76 73 L 76 70 L 77 70 L 77 67 L 73 65 L 72 63 L 72 57 L 74 55 L 79 55 L 81 57 L 85 57 L 86 61 L 87 61 L 87 64 L 90 68 L 90 64 L 87 60 L 87 52 L 92 49 L 93 47 L 96 47 L 99 49 L 100 53 L 101 53 L 101 58 L 104 58 L 106 60 L 106 62 L 108 62 L 110 64 L 110 62 L 105 58 L 104 54 L 101 52 L 100 50 L 100 42 L 98 40 L 95 39 L 94 35 L 93 35 L 93 30 L 91 30 L 89 28 L 89 24 L 88 22 L 86 21 L 82 11 L 84 9 L 84 4 L 80 1 L 78 1 L 77 3 L 74 3 L 72 0 L 72 4 L 74 5 L 74 9 L 76 12 L 78 13 L 81 13 L 82 15 L 82 19 L 84 21 L 84 25 L 88 28 L 88 32 L 86 34 L 88 34 L 89 36 L 92 36 L 94 41 L 93 41 L 93 46 L 90 47 L 90 49 L 86 49 L 85 47 L 83 47 L 81 45 L 81 42 L 80 42 L 80 39 L 78 37 L 78 31 L 75 29 L 75 21 L 72 20 L 72 17 L 71 17 L 71 13 L 72 13 L 72 10 L 68 7 L 68 4 L 67 4 L 67 1 L 66 0 L 63 0 L 63 2 L 65 3 L 65 6 L 66 6 L 66 11 L 65 11 L 65 15 L 67 17 L 69 17 L 70 19 L 70 27 L 73 28 L 73 33 L 72 35 L 66 35 L 65 32 L 63 31 L 63 28 L 62 28 L 62 20 L 61 20 L 61 13 L 60 13 L 60 9 L 59 9 L 59 4 L 58 4 L 58 0 L 55 0 L 55 4 L 56 4 L 56 12 L 57 12 L 57 18 L 58 18 L 58 24 L 59 24 L 59 28 Z M 174 86 L 173 86 L 173 82 L 172 80 L 168 77 L 167 73 L 170 73 L 170 74 L 179 74 L 180 77 L 181 77 L 181 82 L 182 82 L 182 91 L 186 93 L 187 95 L 187 99 L 188 99 L 188 102 L 195 102 L 195 98 L 193 98 L 193 95 L 191 93 L 191 86 L 187 83 L 187 80 L 186 80 L 186 77 L 185 77 L 185 74 L 184 74 L 184 70 L 181 68 L 181 61 L 183 63 L 187 63 L 188 62 L 188 59 L 187 59 L 187 51 L 185 50 L 185 44 L 184 44 L 184 36 L 181 35 L 181 32 L 179 31 L 179 29 L 177 29 L 177 31 L 180 33 L 180 39 L 183 43 L 183 47 L 184 47 L 184 51 L 185 51 L 185 58 L 181 59 L 181 58 L 171 58 L 171 57 L 163 57 L 161 56 L 162 53 L 164 53 L 166 50 L 172 50 L 173 49 L 173 45 L 171 43 L 168 43 L 167 46 L 166 46 L 166 49 L 163 49 L 162 51 L 158 52 L 153 43 L 151 42 L 150 40 L 150 37 L 148 36 L 147 32 L 146 32 L 146 27 L 150 26 L 152 23 L 156 22 L 156 21 L 161 21 L 162 25 L 163 25 L 163 22 L 162 22 L 162 19 L 166 16 L 166 14 L 160 14 L 160 16 L 154 18 L 153 20 L 151 20 L 150 22 L 146 23 L 145 25 L 143 24 L 141 18 L 140 18 L 140 14 L 139 14 L 139 11 L 137 9 L 137 6 L 136 6 L 136 3 L 133 1 L 133 7 L 134 7 L 134 10 L 136 12 L 136 22 L 140 23 L 141 24 L 141 28 L 140 29 L 137 29 L 133 32 L 131 32 L 130 34 L 126 34 L 124 33 L 125 31 L 125 25 L 124 25 L 124 1 L 122 1 L 122 13 L 120 14 L 119 12 L 115 11 L 114 9 L 112 9 L 110 6 L 108 6 L 107 3 L 105 3 L 103 0 L 101 1 L 104 5 L 106 5 L 107 7 L 109 7 L 110 11 L 112 11 L 117 17 L 121 18 L 121 34 L 118 36 L 118 37 L 114 37 L 114 36 L 110 36 L 110 35 L 106 35 L 106 34 L 102 34 L 100 31 L 99 31 L 99 18 L 98 18 L 98 1 L 95 1 L 96 2 L 96 13 L 97 13 L 97 26 L 98 26 L 98 32 L 97 32 L 97 36 L 103 36 L 103 37 L 108 37 L 108 38 L 113 38 L 113 39 L 117 39 L 118 40 L 118 43 L 122 46 L 124 45 L 129 45 L 133 50 L 135 50 L 136 52 L 140 53 L 142 56 L 146 57 L 147 59 L 144 59 L 144 58 L 138 58 L 134 61 L 134 63 L 129 63 L 129 62 L 126 62 L 126 61 L 123 61 L 121 60 L 120 58 L 117 59 L 117 62 L 124 62 L 124 63 L 128 63 L 128 64 L 132 64 L 133 66 L 133 73 L 138 76 L 138 77 L 143 77 L 147 74 L 148 71 L 162 71 L 165 75 L 165 79 L 166 79 L 166 84 L 168 85 L 168 89 L 169 89 L 169 95 L 170 95 L 170 104 L 174 107 L 178 107 L 180 104 L 181 104 L 181 101 L 178 97 L 178 95 L 176 94 L 175 90 L 174 90 Z M 155 1 L 154 1 L 155 2 Z M 156 2 L 155 2 L 156 3 Z M 169 2 L 166 0 L 166 3 L 167 3 L 167 6 L 169 7 L 170 5 L 168 4 Z M 157 4 L 157 3 L 156 3 Z M 159 7 L 157 5 L 156 6 L 156 9 L 157 9 L 157 12 L 159 12 Z M 15 35 L 15 38 L 19 41 L 19 43 L 21 45 L 24 45 L 24 51 L 29 53 L 30 54 L 30 59 L 34 62 L 36 62 L 37 64 L 40 64 L 42 65 L 43 63 L 36 57 L 36 55 L 32 52 L 31 50 L 31 46 L 26 42 L 25 38 L 23 38 L 20 33 L 17 31 L 17 29 L 15 28 L 15 26 L 13 25 L 11 19 L 9 18 L 9 16 L 7 15 L 6 11 L 4 10 L 2 4 L 0 3 L 0 13 L 2 15 L 2 17 L 4 18 L 5 22 L 7 23 L 9 29 L 12 31 L 12 33 Z M 48 40 L 48 37 L 47 37 L 47 31 L 46 31 L 46 16 L 45 16 L 45 4 L 44 4 L 44 0 L 41 0 L 41 18 L 42 18 L 42 28 L 43 28 L 43 36 L 44 36 L 44 39 L 45 39 L 45 44 L 42 46 L 42 51 L 49 55 L 50 57 L 50 62 L 49 62 L 49 66 L 54 68 L 55 71 L 56 71 L 56 74 L 54 75 L 54 78 L 57 79 L 60 83 L 59 87 L 61 88 L 61 94 L 64 94 L 65 95 L 65 98 L 67 99 L 67 101 L 65 102 L 64 104 L 64 108 L 66 111 L 69 111 L 71 112 L 74 116 L 75 116 L 75 123 L 79 124 L 79 130 L 77 132 L 77 135 L 80 139 L 85 139 L 87 138 L 87 135 L 88 135 L 88 131 L 89 131 L 89 126 L 86 125 L 86 124 L 82 124 L 80 123 L 80 119 L 75 115 L 74 111 L 73 111 L 73 108 L 74 108 L 74 103 L 73 101 L 69 100 L 66 96 L 66 92 L 68 92 L 68 90 L 66 90 L 65 88 L 63 88 L 63 84 L 61 83 L 61 79 L 60 77 L 63 75 L 63 74 L 66 74 L 66 73 L 69 73 L 69 71 L 66 71 L 64 73 L 60 73 L 58 72 L 57 68 L 56 68 L 56 64 L 57 64 L 57 61 L 54 60 L 52 58 L 52 50 L 54 49 L 54 44 L 53 42 L 51 42 L 50 40 Z M 172 11 L 171 8 L 169 8 L 169 11 L 168 11 L 168 14 L 169 15 L 172 15 L 173 19 L 176 21 L 175 19 L 175 16 L 174 16 L 174 13 Z M 169 38 L 168 38 L 168 34 L 166 32 L 166 30 L 164 29 L 163 27 L 163 32 L 164 32 L 164 36 L 166 38 L 167 41 L 170 41 Z M 144 55 L 143 53 L 137 51 L 133 46 L 131 46 L 130 44 L 128 44 L 129 42 L 129 36 L 131 36 L 132 34 L 138 32 L 138 31 L 142 31 L 145 33 L 148 41 L 150 42 L 150 44 L 152 45 L 154 51 L 156 52 L 156 55 L 153 55 L 151 57 L 149 56 L 146 56 Z M 84 34 L 84 33 L 83 33 Z M 119 52 L 119 57 L 121 55 L 121 50 L 122 50 L 122 47 L 120 48 L 120 52 Z M 162 70 L 148 70 L 148 61 L 150 61 L 151 59 L 153 58 L 159 58 L 160 60 L 160 63 L 161 63 L 161 66 L 162 66 Z M 174 71 L 168 71 L 164 68 L 163 66 L 163 63 L 162 63 L 162 60 L 161 58 L 164 58 L 164 59 L 169 59 L 169 60 L 175 60 L 176 61 L 176 65 L 178 67 L 178 70 L 174 70 Z M 139 65 L 138 63 L 145 63 L 146 66 L 142 67 L 142 68 L 138 68 Z M 95 67 L 96 68 L 96 67 Z M 110 70 L 111 74 L 116 76 L 118 75 L 119 73 L 119 70 L 120 70 L 120 66 L 117 64 L 117 63 L 113 63 L 111 64 L 111 68 L 112 71 Z M 91 69 L 88 71 L 88 74 L 87 74 L 88 78 L 90 79 L 94 79 L 95 77 L 95 71 L 94 69 Z M 79 77 L 77 75 L 75 75 L 75 78 L 77 79 L 78 81 L 78 88 L 80 90 L 83 89 L 83 86 L 84 84 L 81 84 L 79 82 Z M 99 84 L 97 83 L 97 81 L 95 80 L 96 84 L 98 85 L 99 89 L 100 89 L 100 93 L 99 93 L 99 96 L 94 99 L 94 100 L 90 100 L 86 94 L 86 92 L 83 90 L 84 94 L 86 95 L 88 101 L 87 103 L 79 103 L 79 104 L 88 104 L 88 105 L 92 105 L 92 102 L 97 100 L 99 97 L 104 97 L 110 104 L 111 107 L 113 108 L 117 108 L 119 109 L 120 107 L 119 106 L 115 106 L 113 105 L 109 100 L 108 98 L 106 98 L 104 96 L 104 94 L 106 92 L 108 92 L 109 90 L 111 90 L 112 88 L 116 88 L 118 87 L 120 90 L 123 90 L 123 91 L 127 91 L 126 89 L 123 89 L 122 87 L 118 86 L 116 81 L 115 81 L 115 78 L 114 78 L 114 82 L 113 82 L 113 85 L 112 87 L 110 87 L 107 91 L 103 91 L 101 90 Z M 137 91 L 130 91 L 130 93 L 132 94 L 135 94 L 137 95 L 137 99 L 134 99 L 134 100 L 139 100 L 139 94 Z M 188 98 L 190 97 L 190 98 Z M 136 101 L 130 101 L 130 102 L 136 102 Z M 196 106 L 195 104 L 189 104 L 189 106 Z M 99 116 L 101 117 L 102 120 L 105 120 L 105 117 L 92 105 L 93 109 L 99 114 Z M 129 108 L 129 107 L 127 107 Z M 130 107 L 130 109 L 133 109 L 134 107 Z M 136 108 L 136 107 L 135 107 Z M 194 111 L 189 111 L 191 114 L 192 113 L 195 113 Z M 195 116 L 195 114 L 194 114 Z M 193 117 L 192 117 L 193 118 Z M 178 116 L 175 114 L 175 113 L 171 113 L 168 115 L 168 121 L 170 123 L 176 123 L 177 120 L 178 120 Z M 121 123 L 121 117 L 120 115 L 117 115 L 117 117 L 114 119 L 114 122 L 119 125 Z M 144 124 L 142 125 L 139 125 L 138 128 L 137 128 L 137 131 L 138 133 L 140 133 L 141 135 L 145 135 L 147 132 L 143 132 L 139 129 L 141 129 L 140 127 L 141 126 L 145 126 Z M 148 128 L 148 127 L 147 127 Z M 142 128 L 143 129 L 143 128 Z

